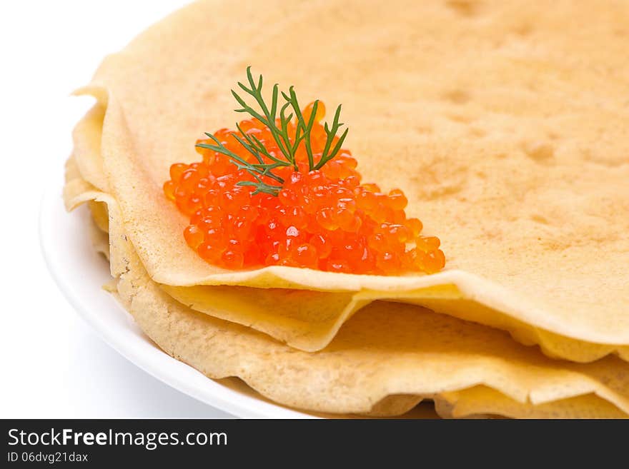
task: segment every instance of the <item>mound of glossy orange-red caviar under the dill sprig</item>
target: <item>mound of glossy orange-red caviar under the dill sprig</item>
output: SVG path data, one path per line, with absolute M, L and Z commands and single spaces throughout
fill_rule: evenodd
M 312 104 L 304 110 L 306 119 L 310 111 Z M 326 138 L 319 123 L 323 114 L 320 103 L 311 133 L 317 157 Z M 240 127 L 269 153 L 279 154 L 262 123 L 245 120 Z M 232 131 L 221 129 L 214 136 L 244 160 L 256 162 Z M 350 151 L 341 150 L 320 170 L 308 171 L 302 143 L 296 155 L 299 171 L 292 166 L 274 169 L 284 179 L 277 196 L 253 195 L 253 187 L 238 186 L 253 178 L 229 156 L 207 148 L 197 151 L 202 161 L 171 166 L 164 193 L 190 217 L 184 238 L 209 263 L 228 269 L 277 265 L 382 275 L 434 273 L 445 265 L 439 238 L 422 236 L 422 222 L 406 217 L 404 193 L 385 193 L 376 184 L 361 183 Z

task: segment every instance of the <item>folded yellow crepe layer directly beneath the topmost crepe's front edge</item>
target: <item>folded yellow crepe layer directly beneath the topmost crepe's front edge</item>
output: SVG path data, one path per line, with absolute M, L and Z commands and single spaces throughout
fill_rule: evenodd
M 457 288 L 435 286 L 412 292 L 320 292 L 283 288 L 240 286 L 172 287 L 162 285 L 170 296 L 195 311 L 244 324 L 269 334 L 289 346 L 319 351 L 339 328 L 372 301 L 395 301 L 424 306 L 465 321 L 508 331 L 518 342 L 539 345 L 554 358 L 580 363 L 617 353 L 629 361 L 629 346 L 609 346 L 578 341 L 535 328 L 476 301 L 467 300 Z

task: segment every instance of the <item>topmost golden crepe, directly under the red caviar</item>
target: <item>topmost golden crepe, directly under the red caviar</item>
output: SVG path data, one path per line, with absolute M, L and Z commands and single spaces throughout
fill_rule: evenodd
M 202 2 L 109 56 L 81 92 L 107 106 L 107 184 L 158 283 L 455 285 L 545 331 L 626 346 L 627 24 L 628 4 L 600 1 Z M 446 271 L 229 272 L 187 247 L 162 183 L 171 163 L 197 158 L 203 131 L 237 120 L 229 88 L 249 64 L 343 104 L 365 181 L 405 191 L 409 216 L 442 239 Z

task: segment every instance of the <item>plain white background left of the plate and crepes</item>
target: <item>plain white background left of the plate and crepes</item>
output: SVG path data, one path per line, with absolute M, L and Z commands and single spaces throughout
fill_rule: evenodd
M 71 129 L 91 106 L 69 94 L 185 3 L 0 1 L 0 418 L 229 416 L 104 344 L 61 296 L 39 247 L 42 193 L 61 188 Z

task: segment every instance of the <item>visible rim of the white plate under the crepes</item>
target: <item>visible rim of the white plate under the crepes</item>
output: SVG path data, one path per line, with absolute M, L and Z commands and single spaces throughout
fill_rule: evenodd
M 263 400 L 237 380 L 211 380 L 159 349 L 101 288 L 111 280 L 109 264 L 91 246 L 88 221 L 86 207 L 66 213 L 59 186 L 46 191 L 39 226 L 46 263 L 71 305 L 109 346 L 172 388 L 237 417 L 314 418 Z

